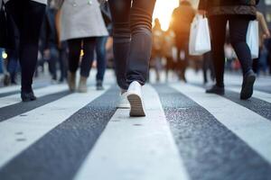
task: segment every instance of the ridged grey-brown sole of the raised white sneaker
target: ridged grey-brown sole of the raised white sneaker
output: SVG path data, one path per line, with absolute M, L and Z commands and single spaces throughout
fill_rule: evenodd
M 145 111 L 143 102 L 137 94 L 129 94 L 127 99 L 131 105 L 130 116 L 131 117 L 144 117 Z

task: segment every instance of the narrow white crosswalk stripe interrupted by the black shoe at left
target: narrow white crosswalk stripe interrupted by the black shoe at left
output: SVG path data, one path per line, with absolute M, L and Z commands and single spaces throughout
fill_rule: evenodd
M 34 91 L 34 93 L 37 97 L 42 97 L 48 94 L 60 93 L 61 91 L 65 90 L 68 90 L 67 85 L 50 85 L 37 89 Z M 0 98 L 0 108 L 20 102 L 22 102 L 20 94 L 8 95 Z

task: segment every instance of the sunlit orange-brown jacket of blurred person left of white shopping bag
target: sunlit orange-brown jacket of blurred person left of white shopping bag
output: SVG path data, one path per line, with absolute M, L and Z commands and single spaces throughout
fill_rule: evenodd
M 176 36 L 189 37 L 190 26 L 195 14 L 196 10 L 188 1 L 182 1 L 180 6 L 174 9 L 171 28 Z

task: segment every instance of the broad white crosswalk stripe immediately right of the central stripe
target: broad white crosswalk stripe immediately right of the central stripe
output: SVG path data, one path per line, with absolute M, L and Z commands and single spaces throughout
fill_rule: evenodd
M 204 94 L 201 87 L 171 85 L 209 111 L 218 121 L 243 139 L 271 163 L 271 122 L 247 108 L 216 94 Z

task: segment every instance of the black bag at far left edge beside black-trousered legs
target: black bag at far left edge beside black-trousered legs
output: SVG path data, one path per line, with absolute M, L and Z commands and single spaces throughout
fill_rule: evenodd
M 5 49 L 15 49 L 14 22 L 5 11 L 5 4 L 2 1 L 0 9 L 0 47 Z

